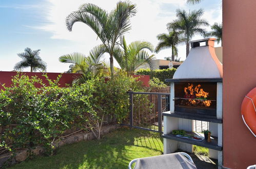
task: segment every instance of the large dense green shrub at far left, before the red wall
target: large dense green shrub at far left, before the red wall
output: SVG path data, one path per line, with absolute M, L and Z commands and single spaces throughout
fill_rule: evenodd
M 81 126 L 81 122 L 88 121 L 84 114 L 95 113 L 90 103 L 93 83 L 60 88 L 57 84 L 60 77 L 53 81 L 47 78 L 50 84 L 47 87 L 37 77 L 16 75 L 13 85 L 0 92 L 0 125 L 15 125 L 4 131 L 1 142 L 11 144 L 14 149 L 43 144 L 52 150 L 54 139 L 74 122 Z M 36 88 L 35 84 L 42 88 Z

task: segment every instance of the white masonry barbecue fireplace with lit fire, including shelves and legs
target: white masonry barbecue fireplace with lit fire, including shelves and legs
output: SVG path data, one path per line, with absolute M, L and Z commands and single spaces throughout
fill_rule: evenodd
M 192 144 L 209 148 L 209 156 L 222 165 L 222 64 L 215 54 L 214 38 L 190 41 L 191 49 L 170 82 L 170 111 L 164 112 L 164 154 Z M 193 121 L 207 121 L 211 143 L 180 138 L 173 130 L 193 133 Z M 196 134 L 198 135 L 198 134 Z

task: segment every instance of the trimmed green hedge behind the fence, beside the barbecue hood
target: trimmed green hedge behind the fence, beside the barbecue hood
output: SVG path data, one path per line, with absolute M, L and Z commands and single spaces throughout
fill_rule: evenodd
M 150 69 L 140 69 L 136 72 L 136 74 L 139 75 L 150 75 L 150 78 L 156 77 L 158 78 L 160 81 L 163 81 L 166 85 L 170 85 L 169 82 L 165 82 L 165 79 L 171 79 L 175 73 L 176 69 L 172 68 L 172 69 L 156 69 L 156 70 L 152 70 L 150 71 Z

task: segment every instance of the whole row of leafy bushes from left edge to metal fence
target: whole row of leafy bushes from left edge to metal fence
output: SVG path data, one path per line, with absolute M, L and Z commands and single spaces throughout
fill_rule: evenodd
M 52 143 L 67 129 L 77 126 L 91 130 L 100 139 L 104 117 L 122 121 L 128 116 L 128 90 L 144 91 L 141 81 L 125 76 L 114 79 L 90 79 L 72 87 L 58 87 L 56 80 L 49 86 L 37 77 L 13 77 L 13 85 L 0 92 L 0 146 L 34 147 L 44 145 L 52 153 Z M 35 85 L 41 85 L 36 88 Z M 14 127 L 11 127 L 14 126 Z

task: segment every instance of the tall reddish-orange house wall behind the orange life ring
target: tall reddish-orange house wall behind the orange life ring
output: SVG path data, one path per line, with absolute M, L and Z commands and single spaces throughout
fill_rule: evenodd
M 256 1 L 223 0 L 223 162 L 256 164 L 256 138 L 241 117 L 244 96 L 256 87 Z M 255 119 L 256 122 L 256 119 Z

